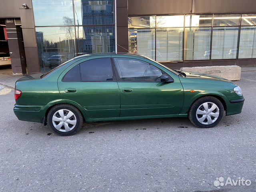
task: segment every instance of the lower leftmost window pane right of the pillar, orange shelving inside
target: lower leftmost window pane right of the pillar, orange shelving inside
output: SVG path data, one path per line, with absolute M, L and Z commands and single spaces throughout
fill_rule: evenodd
M 155 60 L 155 29 L 129 29 L 129 52 Z

